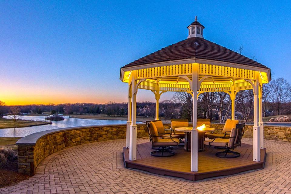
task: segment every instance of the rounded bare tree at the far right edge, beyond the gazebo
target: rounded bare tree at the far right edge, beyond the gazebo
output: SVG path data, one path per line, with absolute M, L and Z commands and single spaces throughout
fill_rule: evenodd
M 284 103 L 289 102 L 291 98 L 291 86 L 284 78 L 277 78 L 270 83 L 272 89 L 272 101 L 274 108 L 279 115 Z

